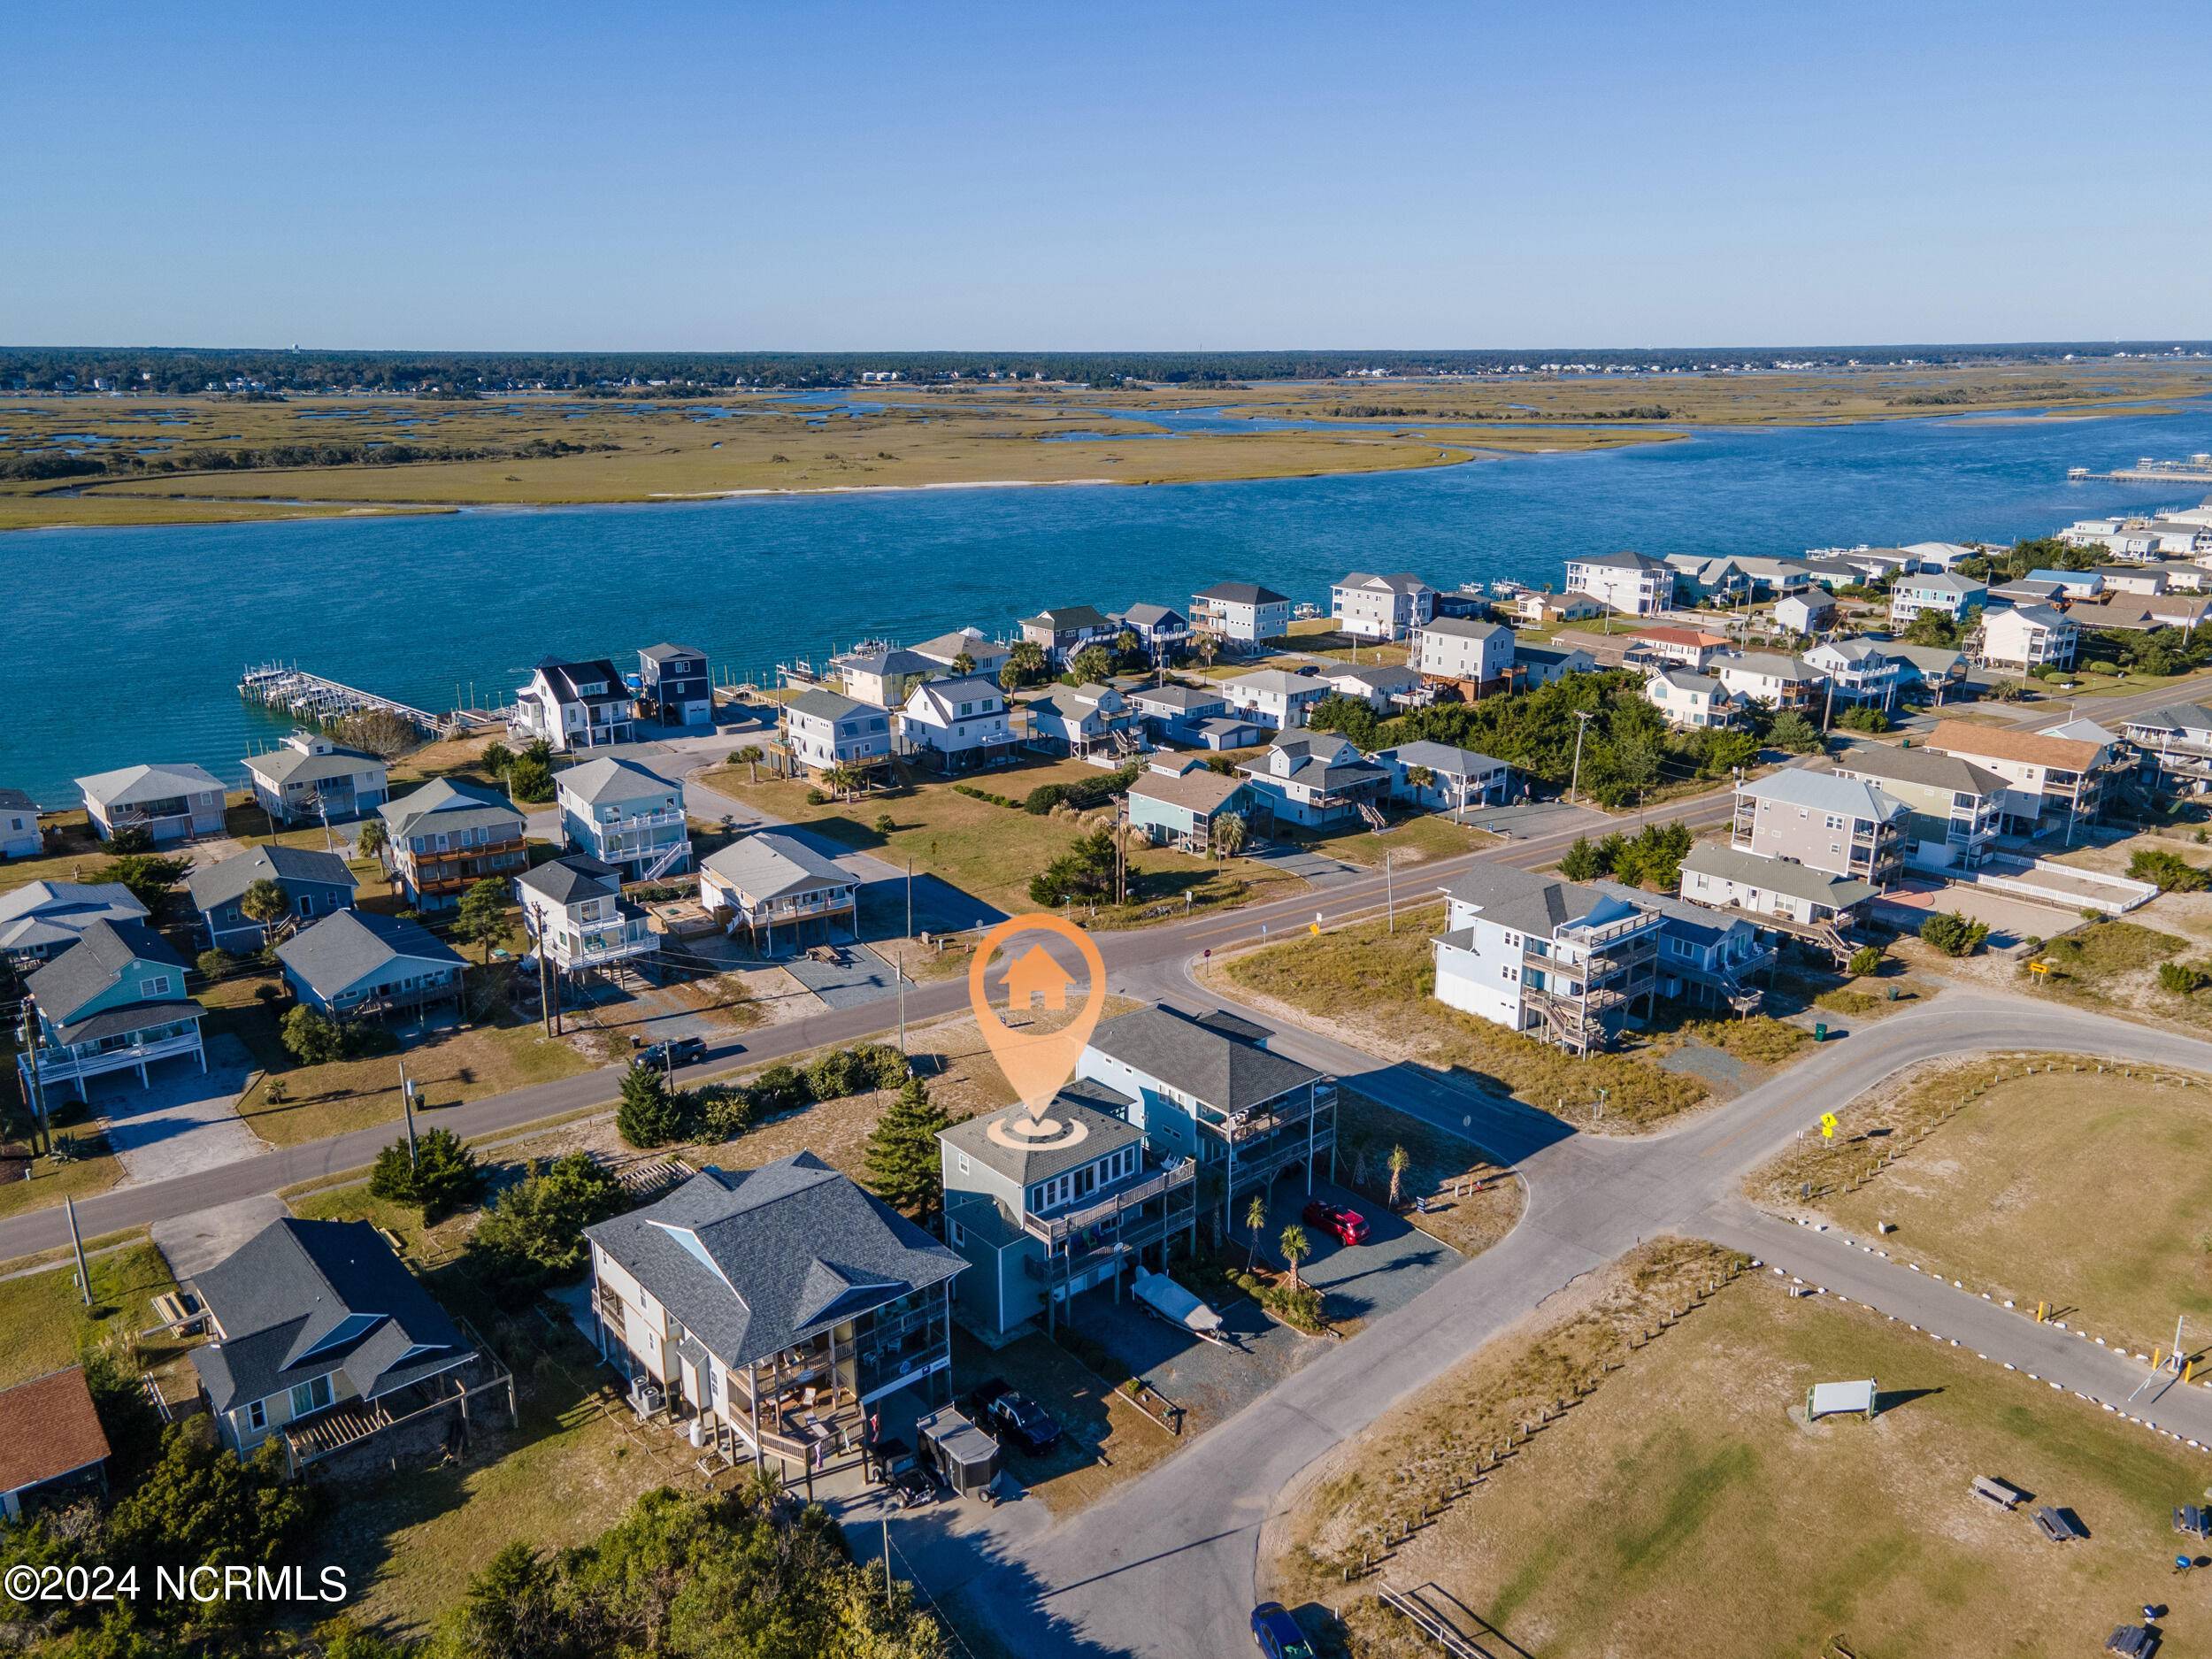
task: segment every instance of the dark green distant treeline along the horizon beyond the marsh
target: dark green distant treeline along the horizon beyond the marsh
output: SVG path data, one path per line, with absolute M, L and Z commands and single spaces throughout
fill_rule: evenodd
M 896 372 L 929 385 L 1000 376 L 1044 376 L 1077 385 L 1157 380 L 1168 385 L 1225 385 L 1232 380 L 1332 380 L 1358 369 L 1387 374 L 1498 374 L 1544 365 L 1593 369 L 1701 369 L 1772 367 L 1774 363 L 1843 367 L 1847 363 L 2020 363 L 2053 361 L 2068 352 L 2197 349 L 2199 341 L 2097 341 L 2020 345 L 1763 345 L 1697 349 L 1540 352 L 265 352 L 170 347 L 0 347 L 0 389 L 11 392 L 206 392 L 210 387 L 268 387 L 276 392 L 611 392 L 648 380 L 659 396 L 730 392 L 737 387 L 843 387 L 863 374 Z

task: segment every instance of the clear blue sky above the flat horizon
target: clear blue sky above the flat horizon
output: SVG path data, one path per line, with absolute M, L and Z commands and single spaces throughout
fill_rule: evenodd
M 2212 336 L 2208 51 L 2201 2 L 18 9 L 0 341 Z

